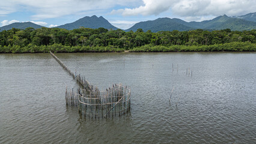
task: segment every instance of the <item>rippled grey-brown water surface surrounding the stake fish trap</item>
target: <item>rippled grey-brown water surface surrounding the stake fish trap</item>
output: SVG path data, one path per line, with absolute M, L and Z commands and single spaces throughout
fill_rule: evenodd
M 129 85 L 130 112 L 84 119 L 50 54 L 0 54 L 0 143 L 256 143 L 256 53 L 56 56 L 99 88 Z

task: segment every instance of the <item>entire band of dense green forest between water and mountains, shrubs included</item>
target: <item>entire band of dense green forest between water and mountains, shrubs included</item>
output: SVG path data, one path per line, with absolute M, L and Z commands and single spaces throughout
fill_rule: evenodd
M 10 29 L 0 32 L 0 53 L 256 51 L 256 30 L 124 32 L 105 28 Z

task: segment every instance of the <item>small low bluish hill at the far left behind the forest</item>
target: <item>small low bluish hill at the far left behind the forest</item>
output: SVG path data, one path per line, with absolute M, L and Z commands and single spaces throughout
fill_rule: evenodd
M 38 28 L 42 28 L 44 26 L 40 26 L 40 25 L 37 25 L 37 24 L 32 23 L 32 22 L 17 22 L 17 23 L 11 23 L 10 25 L 0 27 L 0 31 L 9 30 L 9 29 L 12 29 L 12 28 L 26 29 L 28 27 L 38 29 Z

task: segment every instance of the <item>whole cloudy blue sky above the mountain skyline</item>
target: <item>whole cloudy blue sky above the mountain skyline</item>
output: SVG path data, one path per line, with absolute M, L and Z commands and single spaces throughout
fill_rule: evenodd
M 128 29 L 159 17 L 199 22 L 255 11 L 256 0 L 0 0 L 0 26 L 33 22 L 51 28 L 96 15 Z

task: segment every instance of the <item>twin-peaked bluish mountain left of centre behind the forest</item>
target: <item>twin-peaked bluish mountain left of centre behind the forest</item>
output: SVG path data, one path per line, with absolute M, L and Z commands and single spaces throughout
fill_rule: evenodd
M 91 16 L 91 17 L 83 17 L 82 19 L 76 20 L 73 23 L 67 23 L 65 25 L 57 26 L 56 28 L 64 28 L 68 30 L 78 29 L 81 26 L 84 28 L 105 28 L 105 29 L 118 29 L 117 27 L 111 25 L 108 20 L 104 19 L 102 16 Z

